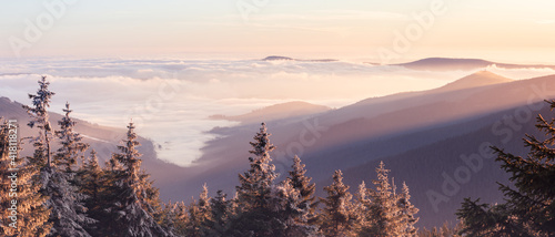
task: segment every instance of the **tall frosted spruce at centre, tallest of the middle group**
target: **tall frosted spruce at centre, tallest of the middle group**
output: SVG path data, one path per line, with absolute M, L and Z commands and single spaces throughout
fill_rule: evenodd
M 232 219 L 233 236 L 272 236 L 274 213 L 272 213 L 272 186 L 275 174 L 270 152 L 275 147 L 270 143 L 266 125 L 262 123 L 260 132 L 251 142 L 251 168 L 239 175 L 238 215 Z

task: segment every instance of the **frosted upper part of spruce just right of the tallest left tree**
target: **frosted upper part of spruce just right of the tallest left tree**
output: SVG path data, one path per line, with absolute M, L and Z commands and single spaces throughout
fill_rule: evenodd
M 63 109 L 65 116 L 58 121 L 61 130 L 54 132 L 61 144 L 54 155 L 54 163 L 60 168 L 72 172 L 72 166 L 77 163 L 79 156 L 82 156 L 82 153 L 89 148 L 89 144 L 81 142 L 83 140 L 81 134 L 73 131 L 77 122 L 70 117 L 72 110 L 69 106 L 70 104 L 65 103 L 65 109 Z

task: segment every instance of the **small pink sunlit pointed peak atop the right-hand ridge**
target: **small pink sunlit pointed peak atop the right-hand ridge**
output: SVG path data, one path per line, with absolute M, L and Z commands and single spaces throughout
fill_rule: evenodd
M 473 74 L 470 74 L 467 76 L 464 76 L 462 79 L 458 79 L 454 82 L 451 82 L 438 90 L 442 92 L 445 91 L 456 91 L 456 90 L 463 90 L 463 89 L 470 89 L 470 87 L 480 87 L 480 86 L 485 86 L 485 85 L 493 85 L 493 84 L 501 84 L 501 83 L 507 83 L 512 82 L 512 79 L 507 79 L 505 76 L 495 74 L 493 72 L 482 70 L 478 72 L 475 72 Z

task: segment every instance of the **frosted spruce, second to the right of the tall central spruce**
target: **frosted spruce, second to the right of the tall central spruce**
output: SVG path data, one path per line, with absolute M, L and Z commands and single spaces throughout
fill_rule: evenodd
M 357 216 L 349 186 L 343 184 L 343 173 L 335 171 L 333 184 L 324 187 L 327 193 L 325 198 L 320 198 L 324 204 L 319 216 L 320 229 L 324 236 L 344 237 L 355 236 Z

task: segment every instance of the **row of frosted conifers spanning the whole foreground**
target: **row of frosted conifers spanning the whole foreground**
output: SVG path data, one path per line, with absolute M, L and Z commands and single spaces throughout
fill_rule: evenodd
M 218 190 L 210 197 L 204 185 L 190 203 L 161 202 L 159 189 L 141 168 L 140 143 L 129 123 L 122 143 L 105 162 L 73 128 L 69 103 L 54 131 L 48 107 L 54 95 L 46 76 L 24 105 L 28 126 L 37 135 L 26 141 L 33 154 L 17 164 L 17 225 L 9 217 L 12 171 L 9 125 L 0 120 L 0 235 L 1 236 L 553 236 L 555 233 L 554 121 L 538 117 L 545 141 L 527 136 L 527 157 L 494 147 L 502 167 L 513 174 L 514 186 L 502 185 L 506 204 L 487 205 L 465 199 L 460 223 L 431 230 L 415 227 L 418 209 L 411 204 L 406 184 L 397 189 L 383 163 L 375 168 L 372 187 L 364 182 L 353 193 L 336 171 L 332 184 L 316 197 L 316 186 L 295 156 L 287 176 L 278 182 L 272 165 L 268 127 L 250 143 L 250 168 L 239 174 L 232 197 Z M 555 102 L 549 102 L 555 107 Z M 58 143 L 58 150 L 51 145 Z M 19 147 L 18 153 L 21 147 Z M 78 161 L 82 161 L 78 163 Z

